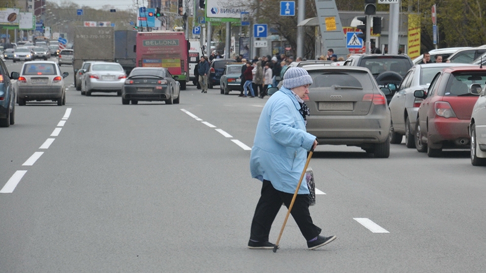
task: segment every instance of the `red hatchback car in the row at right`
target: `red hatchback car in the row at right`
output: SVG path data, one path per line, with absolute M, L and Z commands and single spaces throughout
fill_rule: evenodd
M 429 157 L 445 148 L 469 149 L 468 126 L 472 108 L 486 83 L 486 68 L 459 66 L 438 72 L 427 90 L 417 90 L 420 104 L 415 125 L 417 151 Z

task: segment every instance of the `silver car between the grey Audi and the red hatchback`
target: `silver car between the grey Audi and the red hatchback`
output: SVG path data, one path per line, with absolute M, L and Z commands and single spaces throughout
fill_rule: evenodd
M 400 144 L 405 135 L 405 144 L 408 148 L 415 148 L 415 122 L 417 112 L 423 99 L 415 98 L 416 90 L 427 92 L 427 88 L 434 76 L 443 68 L 464 66 L 454 63 L 430 63 L 412 67 L 398 86 L 395 95 L 390 101 L 391 128 L 390 143 Z

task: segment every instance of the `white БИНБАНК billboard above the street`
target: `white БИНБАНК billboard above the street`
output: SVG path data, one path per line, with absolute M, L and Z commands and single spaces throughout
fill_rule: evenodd
M 221 21 L 225 22 L 228 20 L 223 19 L 233 19 L 230 21 L 241 20 L 241 13 L 248 12 L 244 7 L 241 7 L 241 2 L 236 0 L 206 0 L 206 17 L 208 18 L 219 18 Z M 213 19 L 211 20 L 213 21 Z

